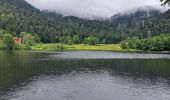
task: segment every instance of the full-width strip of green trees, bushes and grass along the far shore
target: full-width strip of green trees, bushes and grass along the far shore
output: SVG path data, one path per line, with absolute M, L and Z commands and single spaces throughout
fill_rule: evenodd
M 19 43 L 15 39 L 20 39 Z M 21 32 L 18 37 L 13 33 L 0 30 L 0 50 L 98 50 L 98 51 L 170 51 L 170 35 L 160 35 L 139 39 L 129 37 L 120 44 L 102 44 L 97 37 L 90 36 L 80 42 L 78 35 L 60 37 L 57 43 L 42 43 L 39 35 Z

